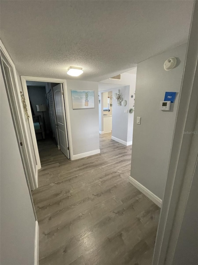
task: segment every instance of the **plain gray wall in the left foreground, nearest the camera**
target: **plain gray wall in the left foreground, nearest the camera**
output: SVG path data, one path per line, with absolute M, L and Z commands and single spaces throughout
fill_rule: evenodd
M 35 218 L 1 72 L 1 265 L 34 264 Z

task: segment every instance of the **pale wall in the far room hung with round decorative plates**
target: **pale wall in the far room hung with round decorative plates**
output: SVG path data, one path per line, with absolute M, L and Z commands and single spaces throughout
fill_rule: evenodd
M 127 132 L 128 132 L 128 113 L 124 113 L 125 109 L 128 109 L 129 101 L 129 86 L 120 87 L 121 97 L 127 100 L 127 106 L 118 106 L 117 100 L 113 97 L 113 107 L 112 107 L 112 136 L 120 140 L 127 142 Z M 112 94 L 118 94 L 118 89 L 114 88 Z

